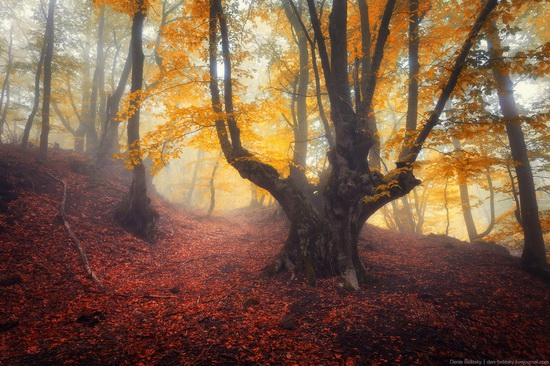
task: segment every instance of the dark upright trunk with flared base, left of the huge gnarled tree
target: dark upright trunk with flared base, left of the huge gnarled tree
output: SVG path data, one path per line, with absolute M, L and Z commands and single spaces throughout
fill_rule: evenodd
M 151 240 L 158 220 L 158 213 L 151 207 L 151 200 L 147 196 L 147 179 L 145 166 L 141 161 L 139 145 L 139 117 L 141 91 L 143 86 L 142 50 L 143 22 L 146 7 L 143 0 L 137 5 L 132 21 L 132 87 L 133 95 L 130 110 L 132 116 L 128 120 L 128 149 L 133 163 L 132 184 L 130 191 L 115 210 L 115 219 L 124 227 L 138 236 Z

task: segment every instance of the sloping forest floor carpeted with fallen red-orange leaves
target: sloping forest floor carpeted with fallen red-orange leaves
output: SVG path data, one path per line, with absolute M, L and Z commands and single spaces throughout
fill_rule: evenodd
M 51 151 L 38 164 L 0 147 L 0 365 L 550 360 L 549 287 L 498 248 L 367 226 L 360 249 L 375 281 L 361 290 L 266 278 L 286 233 L 271 211 L 205 218 L 154 197 L 148 243 L 112 221 L 128 177 L 75 173 L 75 159 Z M 103 291 L 64 227 L 56 179 Z

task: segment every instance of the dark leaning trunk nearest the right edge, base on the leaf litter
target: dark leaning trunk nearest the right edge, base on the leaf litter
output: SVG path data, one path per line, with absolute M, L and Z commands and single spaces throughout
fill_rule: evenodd
M 515 169 L 518 179 L 521 223 L 525 242 L 521 259 L 523 266 L 527 270 L 538 272 L 547 263 L 535 182 L 514 98 L 514 85 L 510 79 L 508 65 L 503 57 L 504 49 L 494 22 L 488 24 L 487 44 L 491 58 L 491 69 L 497 85 L 500 110 L 504 117 L 512 158 L 516 163 Z M 547 276 L 549 276 L 548 273 Z

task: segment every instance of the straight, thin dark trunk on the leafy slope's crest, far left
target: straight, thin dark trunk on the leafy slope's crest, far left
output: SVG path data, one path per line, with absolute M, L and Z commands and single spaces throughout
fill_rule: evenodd
M 46 32 L 44 43 L 46 53 L 44 55 L 44 95 L 42 97 L 42 130 L 40 132 L 39 161 L 46 161 L 48 156 L 48 136 L 50 134 L 50 98 L 52 87 L 52 58 L 54 47 L 54 12 L 56 0 L 50 0 L 48 7 L 48 19 L 46 20 Z

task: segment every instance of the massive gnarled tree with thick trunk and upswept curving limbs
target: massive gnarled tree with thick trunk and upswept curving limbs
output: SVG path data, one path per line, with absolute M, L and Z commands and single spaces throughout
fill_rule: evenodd
M 267 273 L 274 274 L 282 269 L 291 271 L 293 275 L 301 272 L 311 284 L 318 277 L 340 276 L 343 287 L 358 289 L 360 283 L 369 279 L 358 253 L 359 233 L 365 221 L 378 209 L 404 196 L 420 183 L 414 176 L 414 163 L 430 132 L 438 124 L 468 53 L 497 1 L 488 1 L 479 11 L 457 53 L 450 75 L 443 83 L 435 108 L 409 145 L 408 153 L 399 159 L 395 169 L 385 175 L 369 165 L 369 152 L 378 140 L 370 117 L 396 1 L 389 0 L 385 5 L 370 67 L 361 80 L 366 84 L 357 89 L 360 95 L 355 95 L 358 101 L 355 107 L 348 74 L 348 2 L 332 2 L 328 37 L 323 32 L 315 2 L 308 0 L 307 4 L 329 97 L 335 139 L 334 147 L 328 152 L 330 174 L 319 187 L 324 211 L 315 209 L 291 178 L 282 177 L 273 166 L 243 146 L 233 101 L 229 27 L 221 0 L 210 3 L 210 90 L 212 108 L 217 116 L 216 131 L 227 162 L 243 178 L 269 191 L 291 221 L 284 248 L 267 267 Z M 218 85 L 218 41 L 221 41 L 224 68 L 223 99 Z

